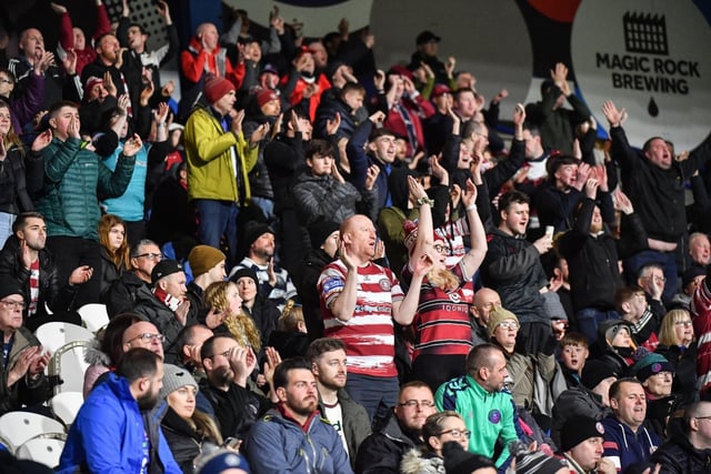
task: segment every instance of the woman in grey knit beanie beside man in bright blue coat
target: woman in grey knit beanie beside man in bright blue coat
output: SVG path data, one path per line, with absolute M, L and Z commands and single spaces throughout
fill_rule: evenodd
M 184 474 L 192 474 L 206 443 L 221 445 L 222 436 L 212 417 L 196 410 L 198 383 L 187 369 L 163 365 L 161 400 L 168 403 L 161 427 L 173 457 Z

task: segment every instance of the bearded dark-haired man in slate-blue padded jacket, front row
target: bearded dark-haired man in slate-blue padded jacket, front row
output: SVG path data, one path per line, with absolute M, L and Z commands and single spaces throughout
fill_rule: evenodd
M 274 371 L 277 407 L 259 420 L 247 438 L 254 472 L 352 473 L 340 436 L 320 416 L 311 363 L 287 359 Z

